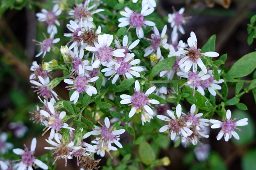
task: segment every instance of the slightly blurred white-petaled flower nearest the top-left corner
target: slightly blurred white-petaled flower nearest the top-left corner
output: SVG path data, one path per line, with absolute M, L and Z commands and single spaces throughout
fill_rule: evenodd
M 59 9 L 59 5 L 54 5 L 52 10 L 47 11 L 42 9 L 42 12 L 36 13 L 38 21 L 45 21 L 48 23 L 47 32 L 56 34 L 58 32 L 56 25 L 60 26 L 58 21 L 58 16 L 61 14 L 62 10 Z

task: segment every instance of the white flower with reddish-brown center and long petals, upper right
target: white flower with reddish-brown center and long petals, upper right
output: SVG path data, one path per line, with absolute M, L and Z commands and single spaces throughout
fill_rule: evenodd
M 207 69 L 204 63 L 201 60 L 201 57 L 218 57 L 219 54 L 216 52 L 206 52 L 200 53 L 201 49 L 197 48 L 197 39 L 194 32 L 190 33 L 190 37 L 188 38 L 188 48 L 183 47 L 184 50 L 180 50 L 174 53 L 176 56 L 185 55 L 180 61 L 180 68 L 184 68 L 184 72 L 188 72 L 190 68 L 193 66 L 193 72 L 197 71 L 197 65 L 202 69 L 202 71 L 206 74 Z

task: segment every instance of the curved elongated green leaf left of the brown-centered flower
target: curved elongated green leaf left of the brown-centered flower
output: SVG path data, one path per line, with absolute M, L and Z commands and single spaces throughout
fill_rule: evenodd
M 171 70 L 175 60 L 175 57 L 169 57 L 157 63 L 150 71 L 148 80 L 151 81 L 153 77 L 159 74 L 161 71 Z

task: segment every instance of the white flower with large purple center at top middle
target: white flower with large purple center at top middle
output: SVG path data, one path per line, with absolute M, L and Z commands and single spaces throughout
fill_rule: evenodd
M 149 6 L 145 5 L 142 7 L 142 10 L 140 13 L 134 12 L 130 10 L 130 8 L 125 7 L 124 11 L 121 11 L 120 14 L 124 17 L 119 18 L 118 21 L 120 22 L 118 24 L 118 27 L 126 27 L 127 25 L 130 25 L 128 30 L 130 28 L 136 28 L 136 34 L 138 38 L 144 37 L 144 31 L 142 27 L 146 29 L 146 25 L 148 26 L 155 26 L 156 24 L 152 21 L 146 20 L 144 17 L 148 16 L 149 14 L 152 14 L 154 12 L 154 8 L 148 9 Z

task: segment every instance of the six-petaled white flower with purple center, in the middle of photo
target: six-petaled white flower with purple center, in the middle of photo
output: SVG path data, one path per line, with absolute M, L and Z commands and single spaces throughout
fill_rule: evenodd
M 140 113 L 141 110 L 147 112 L 150 115 L 154 114 L 154 111 L 151 109 L 150 104 L 159 104 L 155 99 L 149 99 L 148 96 L 156 90 L 156 87 L 153 86 L 149 88 L 146 93 L 142 93 L 140 90 L 140 83 L 138 80 L 135 81 L 134 94 L 132 96 L 127 94 L 122 94 L 120 104 L 129 104 L 132 106 L 131 111 L 129 112 L 129 117 L 132 117 L 135 113 Z M 154 108 L 154 107 L 153 107 Z

